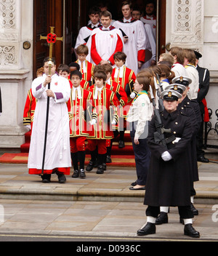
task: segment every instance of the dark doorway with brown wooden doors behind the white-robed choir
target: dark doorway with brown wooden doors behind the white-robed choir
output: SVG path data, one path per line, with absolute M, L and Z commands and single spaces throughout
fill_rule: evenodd
M 121 15 L 121 2 L 123 0 L 108 1 L 108 9 L 113 20 Z M 166 0 L 156 0 L 158 7 L 158 41 L 157 53 L 165 52 L 166 39 Z M 73 47 L 79 29 L 89 21 L 89 8 L 100 4 L 102 0 L 33 0 L 33 78 L 36 77 L 37 68 L 41 67 L 44 57 L 49 55 L 47 41 L 40 41 L 40 35 L 47 36 L 50 26 L 55 27 L 57 36 L 64 36 L 64 41 L 57 41 L 54 47 L 54 56 L 57 65 L 69 64 L 76 60 Z M 103 1 L 104 4 L 107 1 Z M 141 9 L 145 8 L 145 0 L 133 0 Z M 157 55 L 157 56 L 158 56 Z

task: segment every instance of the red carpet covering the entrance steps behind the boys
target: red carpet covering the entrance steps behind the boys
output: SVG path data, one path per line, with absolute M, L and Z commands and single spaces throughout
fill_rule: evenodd
M 118 148 L 118 138 L 113 143 L 111 151 L 112 163 L 107 166 L 120 166 L 120 167 L 135 167 L 134 162 L 134 151 L 132 148 L 131 138 L 128 132 L 125 133 L 125 147 Z M 4 164 L 27 164 L 28 152 L 31 142 L 31 132 L 25 134 L 25 143 L 20 146 L 21 153 L 4 153 L 0 157 L 0 163 Z M 86 164 L 89 163 L 90 154 L 89 151 L 86 153 Z

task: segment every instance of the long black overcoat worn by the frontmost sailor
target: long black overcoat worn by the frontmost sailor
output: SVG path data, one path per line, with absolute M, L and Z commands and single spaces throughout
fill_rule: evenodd
M 175 207 L 190 205 L 190 140 L 193 127 L 190 117 L 180 111 L 161 114 L 164 128 L 171 129 L 166 137 L 180 137 L 178 143 L 169 143 L 168 151 L 172 158 L 163 161 L 161 154 L 166 148 L 154 141 L 155 116 L 150 122 L 148 145 L 151 151 L 150 168 L 145 191 L 145 205 L 154 207 Z

